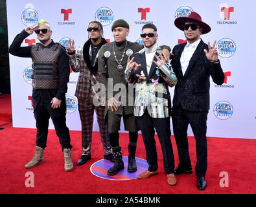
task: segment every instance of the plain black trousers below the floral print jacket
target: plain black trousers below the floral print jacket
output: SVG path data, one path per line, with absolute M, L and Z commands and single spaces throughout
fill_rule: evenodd
M 137 123 L 141 129 L 143 141 L 146 149 L 146 161 L 148 170 L 156 171 L 157 150 L 155 140 L 155 129 L 163 153 L 163 166 L 167 174 L 174 172 L 174 155 L 172 151 L 172 142 L 170 140 L 170 118 L 152 118 L 145 110 L 143 116 L 137 116 Z

